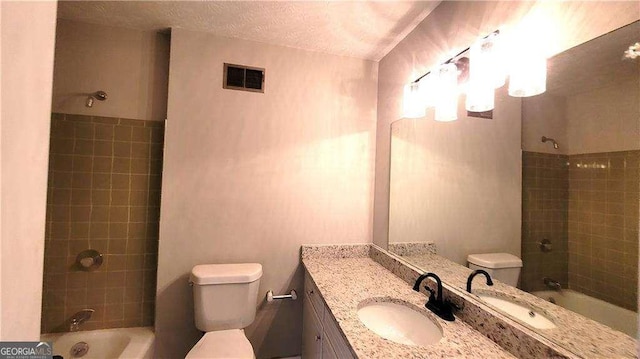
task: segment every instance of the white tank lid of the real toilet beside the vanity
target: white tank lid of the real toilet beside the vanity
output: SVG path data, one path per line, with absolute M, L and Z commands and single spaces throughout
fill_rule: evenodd
M 260 277 L 260 263 L 200 264 L 191 270 L 189 281 L 197 285 L 251 283 Z

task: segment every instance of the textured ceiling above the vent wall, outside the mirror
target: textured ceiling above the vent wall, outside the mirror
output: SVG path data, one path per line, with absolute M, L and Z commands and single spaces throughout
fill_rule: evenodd
M 140 30 L 180 27 L 378 61 L 440 1 L 60 1 L 58 17 Z

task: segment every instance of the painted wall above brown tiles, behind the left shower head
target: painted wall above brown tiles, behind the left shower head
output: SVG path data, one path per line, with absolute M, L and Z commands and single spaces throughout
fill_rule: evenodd
M 163 121 L 168 70 L 168 35 L 58 20 L 53 112 Z M 86 107 L 98 90 L 108 99 Z

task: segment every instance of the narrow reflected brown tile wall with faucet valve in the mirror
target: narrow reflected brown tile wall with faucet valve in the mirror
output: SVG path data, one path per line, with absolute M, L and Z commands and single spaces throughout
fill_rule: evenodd
M 568 277 L 568 156 L 522 152 L 522 274 L 526 291 L 544 290 L 544 277 Z M 542 252 L 548 239 L 552 251 Z

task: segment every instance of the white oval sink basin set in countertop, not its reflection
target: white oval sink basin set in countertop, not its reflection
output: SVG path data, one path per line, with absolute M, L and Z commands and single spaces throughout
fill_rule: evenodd
M 371 331 L 396 343 L 427 346 L 442 338 L 440 326 L 407 305 L 372 302 L 360 306 L 358 317 Z

